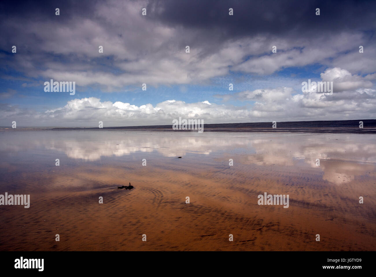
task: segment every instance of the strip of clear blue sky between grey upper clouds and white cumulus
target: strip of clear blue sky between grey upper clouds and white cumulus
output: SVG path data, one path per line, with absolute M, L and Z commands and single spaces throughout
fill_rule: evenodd
M 44 79 L 33 80 L 41 85 L 35 87 L 26 87 L 24 80 L 1 80 L 1 86 L 4 91 L 16 90 L 17 93 L 11 95 L 5 99 L 2 99 L 2 103 L 14 102 L 19 106 L 33 106 L 34 109 L 39 112 L 44 112 L 45 109 L 58 108 L 64 106 L 67 101 L 72 98 L 88 98 L 96 97 L 102 101 L 122 101 L 129 102 L 137 106 L 151 103 L 156 105 L 161 101 L 178 99 L 185 102 L 200 102 L 208 100 L 209 102 L 222 103 L 223 101 L 215 95 L 229 93 L 229 84 L 233 84 L 233 92 L 241 92 L 244 90 L 255 90 L 259 87 L 268 88 L 271 83 L 274 86 L 292 86 L 296 89 L 296 93 L 301 93 L 301 82 L 306 81 L 308 78 L 311 80 L 320 80 L 320 73 L 317 71 L 317 67 L 312 66 L 309 68 L 289 67 L 288 69 L 280 70 L 273 74 L 273 76 L 260 78 L 257 75 L 247 75 L 243 73 L 229 73 L 226 76 L 215 77 L 208 80 L 206 84 L 180 84 L 171 86 L 147 86 L 147 90 L 142 90 L 142 84 L 140 86 L 127 86 L 124 90 L 118 92 L 105 92 L 97 87 L 81 87 L 76 85 L 76 93 L 74 96 L 69 93 L 61 92 L 44 92 Z M 317 73 L 312 73 L 317 71 Z M 5 75 L 6 70 L 1 72 Z M 14 77 L 24 78 L 21 74 L 15 72 Z M 301 80 L 301 81 L 300 81 Z M 274 87 L 273 86 L 273 87 Z M 273 88 L 270 87 L 270 88 Z M 41 89 L 42 88 L 42 89 Z M 22 95 L 22 96 L 21 96 Z M 230 100 L 226 103 L 233 105 L 251 104 L 254 101 Z

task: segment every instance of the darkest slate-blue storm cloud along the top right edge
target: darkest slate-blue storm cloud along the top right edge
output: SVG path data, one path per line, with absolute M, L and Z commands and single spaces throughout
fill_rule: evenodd
M 315 32 L 374 29 L 375 1 L 218 1 L 150 2 L 150 18 L 170 26 L 217 29 L 224 38 L 260 33 L 299 36 Z M 234 16 L 229 16 L 233 8 Z M 315 9 L 320 8 L 320 16 Z

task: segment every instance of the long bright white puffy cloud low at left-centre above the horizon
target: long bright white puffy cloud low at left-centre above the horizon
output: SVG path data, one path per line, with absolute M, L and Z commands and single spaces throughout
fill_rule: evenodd
M 101 102 L 99 98 L 90 97 L 82 99 L 73 99 L 68 101 L 67 105 L 61 108 L 47 110 L 40 118 L 48 120 L 49 118 L 59 121 L 70 120 L 88 124 L 88 122 L 110 121 L 115 124 L 124 125 L 155 125 L 158 122 L 162 124 L 172 124 L 172 119 L 179 118 L 197 118 L 208 119 L 209 121 L 221 121 L 226 117 L 246 118 L 244 110 L 239 110 L 232 106 L 217 105 L 202 101 L 197 103 L 185 103 L 184 101 L 167 100 L 156 104 L 145 104 L 141 106 L 131 105 L 116 101 Z M 107 125 L 109 127 L 109 125 Z

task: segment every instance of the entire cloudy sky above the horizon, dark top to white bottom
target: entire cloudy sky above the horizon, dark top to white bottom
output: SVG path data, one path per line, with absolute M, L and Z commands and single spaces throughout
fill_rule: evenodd
M 375 31 L 376 1 L 3 1 L 0 126 L 376 119 Z

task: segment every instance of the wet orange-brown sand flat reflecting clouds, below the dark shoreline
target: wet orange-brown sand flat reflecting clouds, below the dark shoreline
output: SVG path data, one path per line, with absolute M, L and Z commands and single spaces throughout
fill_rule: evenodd
M 0 206 L 2 251 L 376 250 L 375 135 L 71 130 L 0 139 L 0 194 L 31 202 Z M 117 188 L 129 182 L 134 189 Z M 289 208 L 258 205 L 264 192 L 289 194 Z

